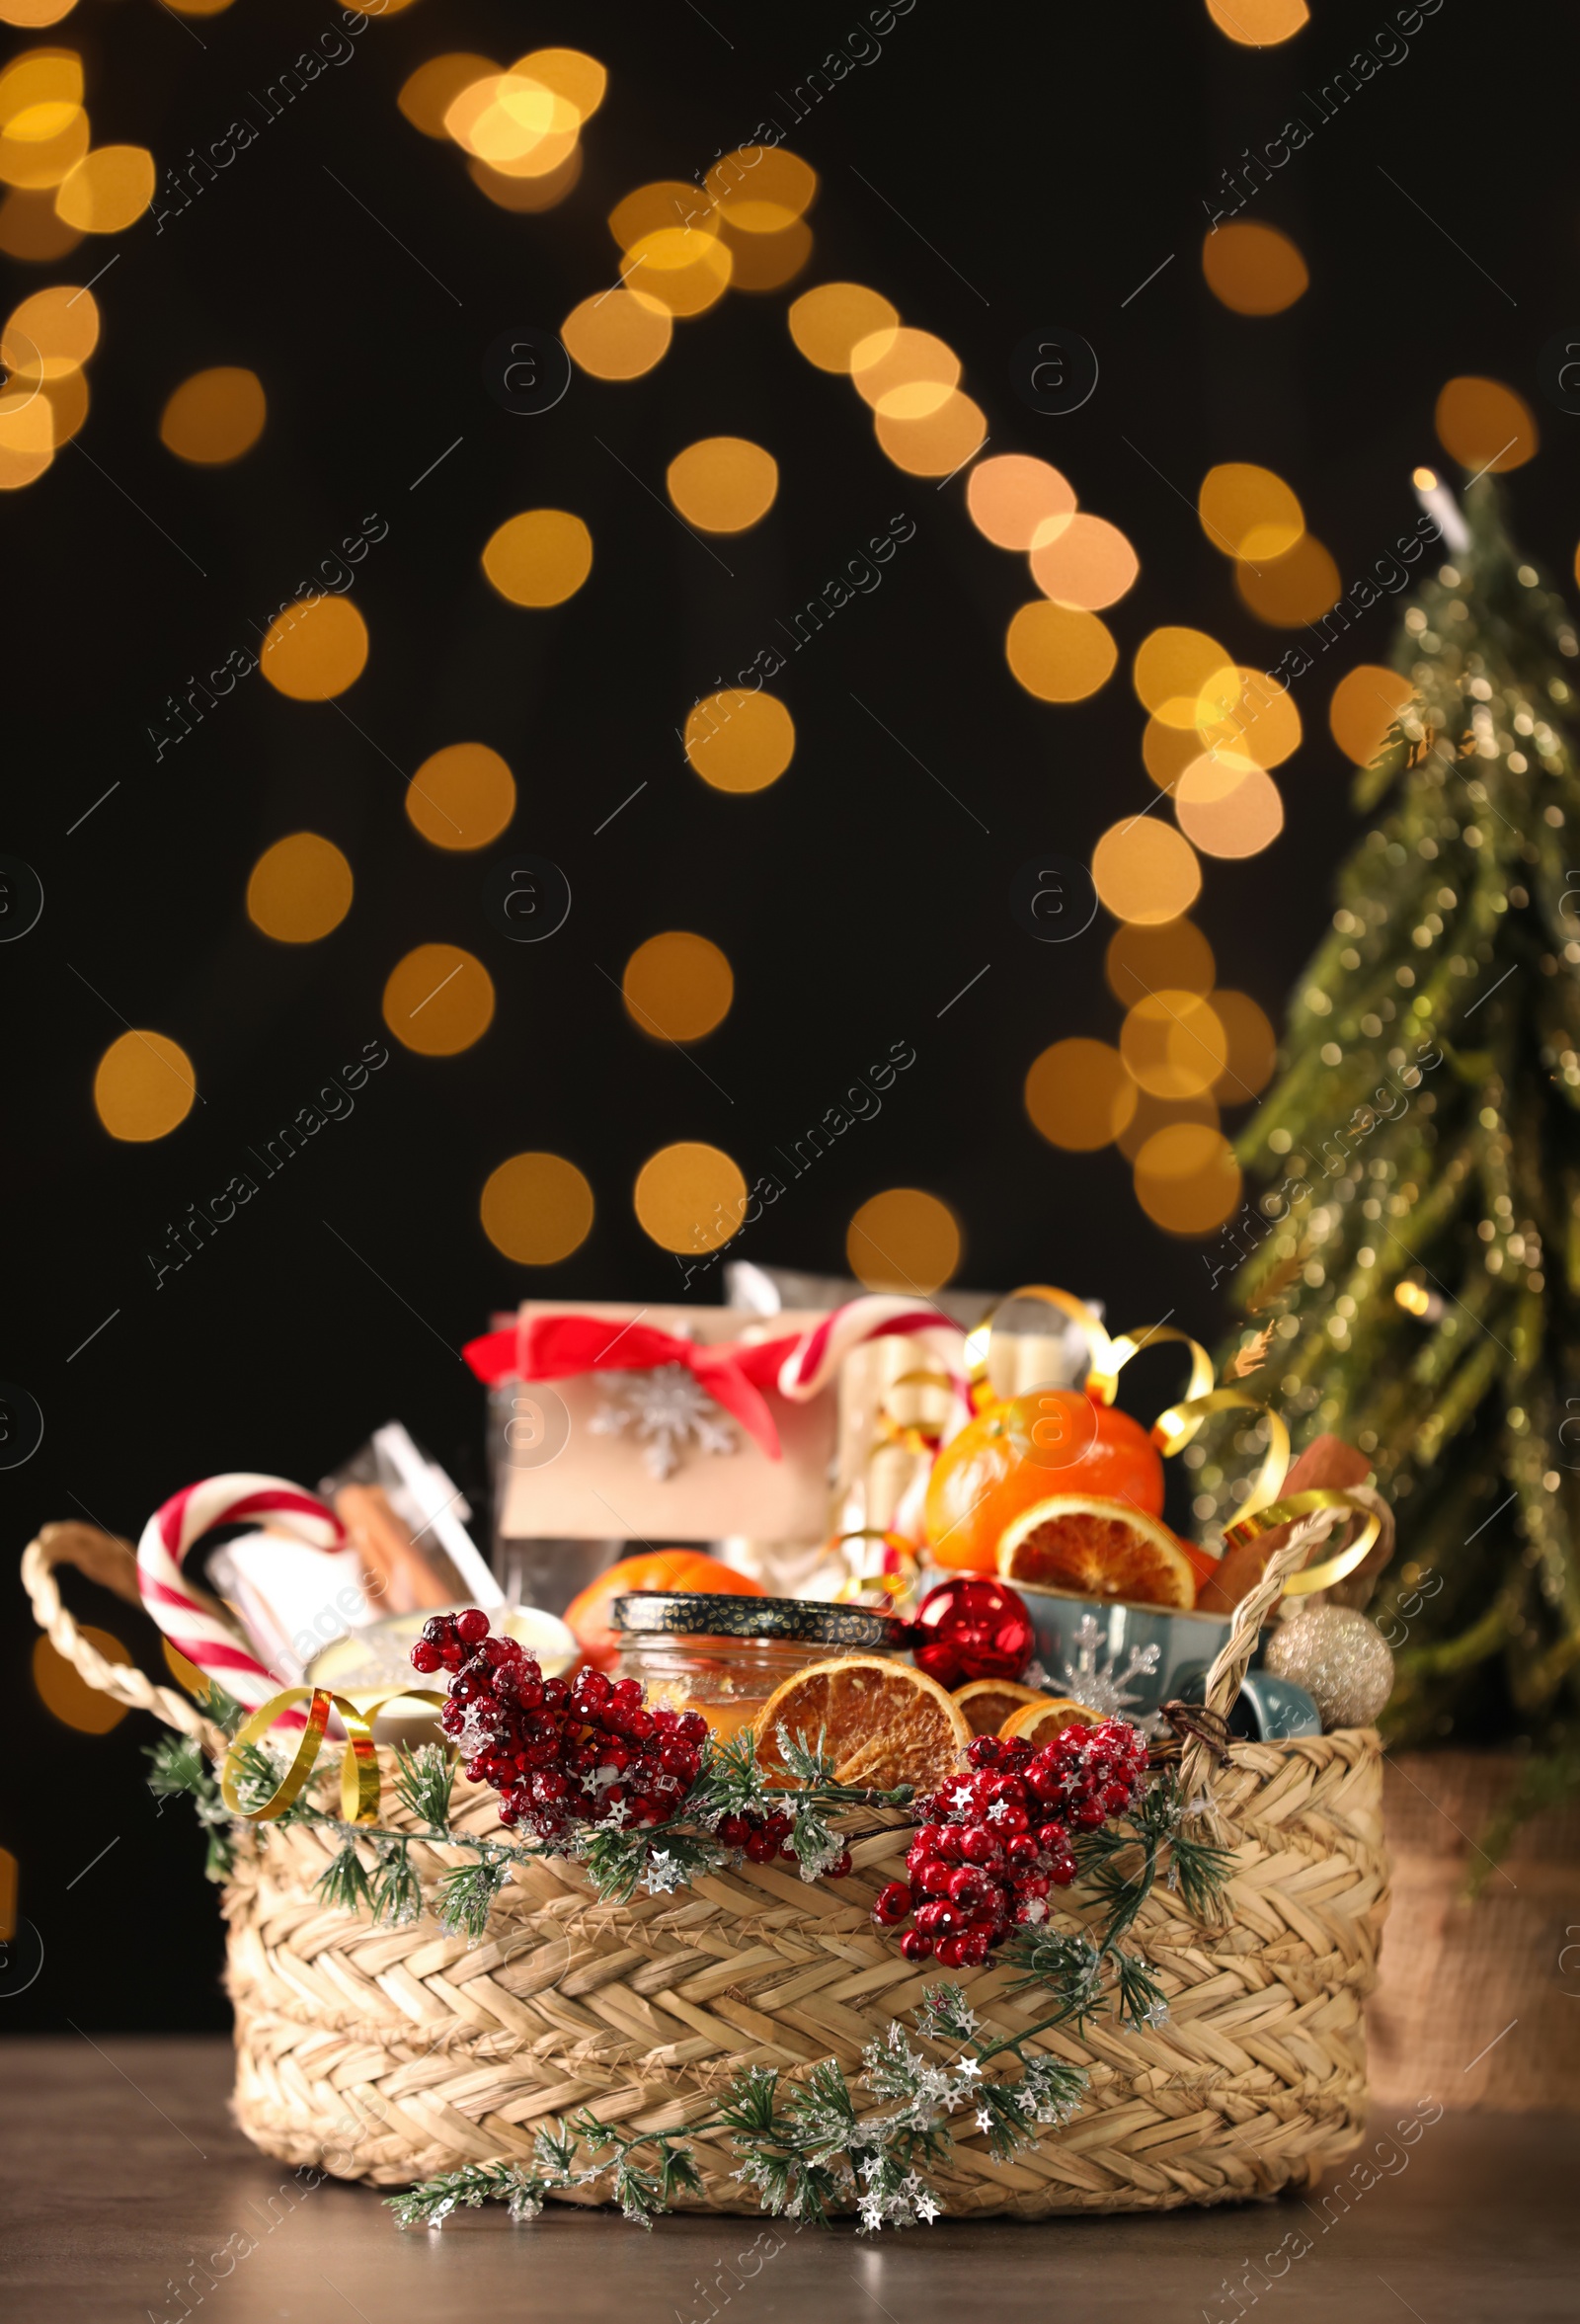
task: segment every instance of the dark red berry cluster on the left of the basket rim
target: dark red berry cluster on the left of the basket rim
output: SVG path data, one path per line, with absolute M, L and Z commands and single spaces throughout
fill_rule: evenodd
M 467 1776 L 500 1792 L 502 1824 L 544 1841 L 611 1808 L 627 1827 L 665 1824 L 697 1780 L 709 1731 L 697 1710 L 648 1710 L 639 1680 L 592 1669 L 544 1678 L 516 1638 L 490 1636 L 476 1606 L 423 1622 L 411 1664 L 453 1671 L 439 1724 Z

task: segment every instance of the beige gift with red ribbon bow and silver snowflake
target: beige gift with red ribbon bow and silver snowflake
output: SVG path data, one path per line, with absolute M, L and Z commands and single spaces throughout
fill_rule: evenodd
M 467 1348 L 495 1390 L 495 1532 L 511 1543 L 823 1541 L 836 1390 L 778 1390 L 823 1318 L 527 1299 Z

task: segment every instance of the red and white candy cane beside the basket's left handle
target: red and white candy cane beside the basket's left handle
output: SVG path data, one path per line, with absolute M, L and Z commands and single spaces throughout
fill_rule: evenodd
M 202 1483 L 177 1492 L 163 1508 L 156 1508 L 137 1543 L 137 1587 L 142 1601 L 165 1631 L 179 1655 L 186 1655 L 204 1678 L 211 1678 L 235 1694 L 244 1710 L 256 1710 L 281 1690 L 279 1671 L 267 1671 L 235 1631 L 218 1622 L 209 1608 L 193 1597 L 181 1557 L 193 1541 L 216 1525 L 239 1525 L 244 1518 L 267 1518 L 316 1550 L 339 1550 L 346 1527 L 332 1508 L 311 1492 L 302 1492 L 283 1476 L 204 1476 Z M 290 1710 L 281 1727 L 300 1727 L 302 1713 Z

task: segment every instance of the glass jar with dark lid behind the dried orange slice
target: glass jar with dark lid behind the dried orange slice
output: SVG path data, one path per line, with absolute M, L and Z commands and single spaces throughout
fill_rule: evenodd
M 616 1599 L 618 1678 L 639 1678 L 651 1710 L 699 1710 L 713 1734 L 751 1727 L 769 1694 L 811 1662 L 897 1655 L 904 1622 L 818 1599 L 634 1590 Z

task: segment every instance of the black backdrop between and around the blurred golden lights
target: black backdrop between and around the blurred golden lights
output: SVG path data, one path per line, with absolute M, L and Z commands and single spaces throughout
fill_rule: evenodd
M 1543 428 L 1541 458 L 1513 479 L 1520 539 L 1568 572 L 1580 437 L 1545 397 L 1541 363 L 1550 335 L 1580 323 L 1575 44 L 1557 9 L 1503 9 L 1494 23 L 1448 0 L 1427 19 L 1408 60 L 1245 211 L 1294 235 L 1313 284 L 1292 311 L 1243 318 L 1201 281 L 1204 198 L 1392 12 L 1317 0 L 1297 40 L 1250 51 L 1197 0 L 1015 12 L 918 0 L 881 60 L 788 139 L 823 181 L 799 281 L 732 293 L 681 323 L 641 381 L 576 374 L 553 414 L 511 416 L 486 393 L 483 353 L 504 330 L 553 330 L 613 279 L 611 205 L 748 139 L 781 112 L 774 93 L 864 21 L 825 0 L 797 12 L 709 0 L 706 14 L 713 28 L 685 5 L 611 5 L 590 21 L 423 0 L 367 26 L 353 60 L 163 232 L 142 218 L 60 267 L 5 263 L 9 307 L 121 253 L 95 288 L 102 339 L 81 442 L 0 511 L 0 844 L 46 890 L 33 934 L 0 948 L 12 1097 L 0 1373 L 46 1420 L 37 1455 L 0 1476 L 9 1555 L 49 1518 L 91 1513 L 135 1536 L 165 1494 L 223 1469 L 311 1483 L 390 1415 L 481 1499 L 483 1399 L 458 1346 L 525 1290 L 676 1297 L 676 1262 L 630 1206 L 646 1155 L 709 1139 L 751 1178 L 899 1039 L 918 1064 L 881 1118 L 741 1236 L 744 1257 L 839 1271 L 855 1206 L 922 1185 L 964 1225 L 962 1281 L 1071 1283 L 1120 1322 L 1176 1308 L 1211 1336 L 1224 1318 L 1199 1246 L 1146 1220 L 1113 1150 L 1055 1153 L 1025 1120 L 1029 1060 L 1064 1034 L 1113 1039 L 1120 1011 L 1101 974 L 1106 916 L 1080 944 L 1039 946 L 1011 918 L 1013 874 L 1046 848 L 1085 858 L 1150 797 L 1125 672 L 1155 623 L 1199 623 L 1252 662 L 1287 644 L 1243 611 L 1201 535 L 1194 495 L 1211 462 L 1287 476 L 1350 586 L 1417 514 L 1408 476 L 1438 458 L 1438 388 L 1492 372 Z M 302 0 L 186 21 L 153 0 L 84 0 L 5 53 L 79 46 L 95 144 L 146 144 L 165 167 L 204 151 L 249 86 L 335 26 L 337 12 Z M 509 60 L 548 42 L 597 53 L 609 98 L 574 195 L 539 218 L 507 216 L 451 146 L 411 130 L 395 93 L 432 53 Z M 1501 88 L 1520 91 L 1517 123 Z M 934 490 L 892 469 L 848 381 L 795 351 L 788 297 L 839 277 L 948 339 L 992 449 L 1053 458 L 1136 544 L 1141 581 L 1108 616 L 1122 665 L 1094 700 L 1053 709 L 1013 683 L 1001 639 L 1032 595 L 1020 560 L 971 528 L 960 481 Z M 1066 418 L 1034 414 L 1011 386 L 1013 349 L 1046 328 L 1083 332 L 1101 363 L 1094 397 Z M 158 414 L 216 363 L 263 376 L 270 423 L 235 467 L 186 467 L 163 451 Z M 748 435 L 781 462 L 769 521 L 730 544 L 734 579 L 611 458 L 662 495 L 674 453 L 713 432 Z M 595 569 L 567 607 L 523 614 L 488 588 L 479 553 L 537 504 L 588 521 Z M 374 511 L 390 530 L 358 567 L 372 655 L 346 718 L 251 679 L 156 760 L 146 727 L 167 693 L 230 648 L 256 648 L 279 602 Z M 774 616 L 897 511 L 918 530 L 883 588 L 781 679 L 799 737 L 790 774 L 748 799 L 709 790 L 676 744 L 692 697 L 751 660 Z M 1355 660 L 1387 658 L 1394 614 L 1378 607 L 1297 683 L 1306 744 L 1280 776 L 1283 839 L 1245 865 L 1206 862 L 1197 918 L 1220 983 L 1273 1018 L 1355 832 L 1327 700 Z M 520 790 L 511 830 L 481 858 L 435 853 L 402 811 L 402 779 L 458 739 L 502 751 Z M 109 783 L 121 788 L 67 837 Z M 356 904 L 323 944 L 286 948 L 251 927 L 244 890 L 260 851 L 300 827 L 351 858 Z M 565 865 L 576 897 L 544 946 L 507 944 L 483 911 L 486 865 L 523 848 Z M 665 927 L 709 934 L 734 967 L 734 1009 L 702 1050 L 734 1104 L 685 1055 L 644 1041 L 606 981 Z M 156 1290 L 146 1253 L 165 1225 L 383 1034 L 390 967 L 432 939 L 467 946 L 495 978 L 486 1039 L 439 1060 L 390 1041 L 356 1113 Z M 983 962 L 990 974 L 939 1018 Z M 121 1023 L 177 1039 L 204 1099 L 151 1146 L 112 1141 L 93 1111 L 93 1071 Z M 558 1269 L 511 1267 L 479 1227 L 483 1178 L 523 1148 L 569 1155 L 597 1195 L 590 1239 Z M 1136 1397 L 1150 1411 L 1148 1387 Z M 77 1578 L 67 1597 L 158 1669 L 151 1624 Z M 223 2024 L 218 1899 L 186 1808 L 156 1815 L 144 1789 L 149 1722 L 128 1715 L 88 1738 L 49 1717 L 16 1585 L 7 1606 L 0 1843 L 21 1859 L 21 1908 L 46 1948 L 7 2022 Z

